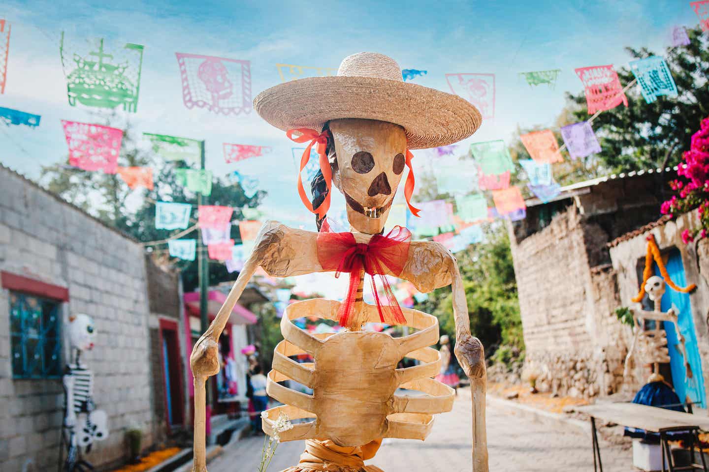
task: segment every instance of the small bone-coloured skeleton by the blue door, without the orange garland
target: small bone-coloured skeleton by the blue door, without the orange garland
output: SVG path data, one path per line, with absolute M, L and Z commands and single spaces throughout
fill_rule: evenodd
M 649 277 L 644 284 L 644 291 L 647 297 L 654 301 L 654 310 L 646 311 L 641 306 L 632 309 L 632 319 L 635 321 L 633 326 L 634 336 L 630 344 L 630 350 L 625 358 L 625 369 L 623 376 L 630 373 L 630 361 L 632 357 L 637 357 L 642 364 L 652 364 L 652 375 L 648 379 L 648 383 L 663 381 L 663 376 L 659 373 L 659 364 L 669 362 L 669 351 L 667 349 L 667 334 L 662 328 L 662 321 L 671 321 L 674 324 L 679 344 L 679 351 L 684 359 L 684 366 L 687 370 L 687 377 L 691 379 L 692 369 L 689 367 L 687 354 L 684 349 L 684 336 L 679 330 L 677 324 L 678 309 L 672 306 L 666 312 L 661 311 L 662 295 L 665 292 L 665 282 L 661 277 L 653 275 Z M 649 323 L 647 323 L 649 322 Z M 648 327 L 649 326 L 649 327 Z

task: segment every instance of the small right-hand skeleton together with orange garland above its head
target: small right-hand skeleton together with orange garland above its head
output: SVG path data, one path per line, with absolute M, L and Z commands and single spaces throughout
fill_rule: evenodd
M 674 330 L 677 333 L 679 343 L 676 345 L 677 350 L 682 355 L 684 366 L 686 369 L 687 378 L 692 378 L 692 369 L 689 366 L 687 352 L 684 346 L 684 336 L 682 335 L 677 317 L 679 309 L 674 304 L 668 311 L 661 310 L 662 296 L 665 293 L 666 284 L 678 292 L 691 292 L 695 287 L 677 287 L 669 278 L 669 275 L 664 267 L 664 263 L 660 257 L 659 248 L 654 240 L 654 236 L 647 237 L 647 256 L 645 258 L 645 268 L 643 271 L 643 282 L 640 287 L 640 292 L 637 297 L 632 299 L 635 302 L 635 308 L 630 311 L 633 319 L 633 338 L 630 344 L 630 349 L 625 357 L 625 368 L 623 369 L 623 377 L 630 374 L 630 366 L 632 359 L 637 359 L 640 364 L 652 364 L 652 374 L 649 376 L 647 383 L 664 381 L 664 377 L 659 373 L 659 364 L 670 362 L 669 350 L 667 347 L 667 334 L 662 327 L 662 321 L 672 323 Z M 661 274 L 665 277 L 652 275 L 652 261 L 657 263 Z M 647 294 L 647 297 L 654 303 L 654 310 L 643 310 L 640 301 Z M 647 323 L 651 321 L 652 323 Z

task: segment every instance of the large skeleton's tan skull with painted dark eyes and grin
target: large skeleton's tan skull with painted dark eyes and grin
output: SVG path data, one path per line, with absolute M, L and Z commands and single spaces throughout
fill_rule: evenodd
M 330 131 L 333 182 L 345 195 L 347 219 L 357 231 L 378 234 L 403 175 L 406 134 L 392 123 L 359 119 L 333 120 Z

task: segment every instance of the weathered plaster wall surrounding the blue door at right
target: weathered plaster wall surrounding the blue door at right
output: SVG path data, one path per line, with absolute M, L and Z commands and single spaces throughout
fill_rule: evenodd
M 674 221 L 650 229 L 632 238 L 617 243 L 610 248 L 610 258 L 613 268 L 618 273 L 618 288 L 620 299 L 624 306 L 632 305 L 640 287 L 637 267 L 644 266 L 644 257 L 647 251 L 647 236 L 653 234 L 660 251 L 671 248 L 679 249 L 684 266 L 687 283 L 697 284 L 695 292 L 689 295 L 694 329 L 697 336 L 699 354 L 702 358 L 702 371 L 705 379 L 705 390 L 709 388 L 709 240 L 705 239 L 698 244 L 684 244 L 681 234 L 684 229 L 695 229 L 698 224 L 696 212 L 683 214 Z M 647 381 L 647 371 L 636 365 L 635 379 L 628 379 L 629 383 L 639 385 Z M 709 391 L 705 392 L 709 398 Z

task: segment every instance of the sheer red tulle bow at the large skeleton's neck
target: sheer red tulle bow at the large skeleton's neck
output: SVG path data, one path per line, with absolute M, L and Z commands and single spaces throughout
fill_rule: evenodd
M 398 305 L 389 280 L 384 274 L 401 275 L 408 259 L 408 246 L 411 242 L 411 232 L 401 226 L 394 226 L 386 236 L 375 234 L 369 243 L 357 243 L 352 233 L 330 233 L 325 224 L 318 233 L 318 261 L 325 270 L 335 270 L 335 277 L 342 272 L 350 272 L 350 287 L 347 297 L 337 310 L 337 321 L 340 326 L 357 330 L 357 320 L 352 319 L 352 309 L 355 301 L 362 301 L 362 292 L 358 292 L 359 280 L 363 272 L 370 275 L 372 293 L 379 311 L 379 320 L 387 324 L 406 323 Z M 376 292 L 374 275 L 384 287 L 388 305 L 381 304 L 379 293 Z

